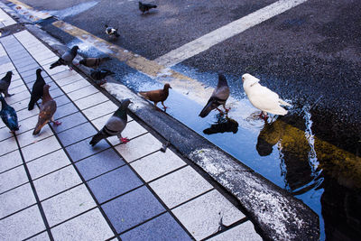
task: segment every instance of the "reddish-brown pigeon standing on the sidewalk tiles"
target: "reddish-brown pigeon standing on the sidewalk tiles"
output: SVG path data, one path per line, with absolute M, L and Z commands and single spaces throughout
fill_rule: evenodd
M 58 121 L 54 121 L 52 116 L 56 111 L 56 102 L 52 99 L 49 94 L 50 85 L 44 85 L 43 93 L 42 93 L 42 106 L 40 107 L 40 113 L 38 118 L 38 123 L 35 126 L 32 134 L 39 134 L 42 130 L 42 127 L 46 125 L 48 122 L 52 122 L 54 125 L 60 125 L 61 123 Z

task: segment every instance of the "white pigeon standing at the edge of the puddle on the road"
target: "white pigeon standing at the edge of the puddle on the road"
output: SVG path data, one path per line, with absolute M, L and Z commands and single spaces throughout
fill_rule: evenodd
M 255 78 L 250 74 L 244 74 L 242 76 L 243 88 L 245 94 L 249 98 L 251 104 L 260 109 L 262 112 L 260 116 L 267 120 L 267 113 L 274 115 L 284 116 L 287 114 L 287 110 L 282 106 L 291 106 L 289 103 L 282 100 L 271 89 L 261 86 L 258 82 L 260 79 Z

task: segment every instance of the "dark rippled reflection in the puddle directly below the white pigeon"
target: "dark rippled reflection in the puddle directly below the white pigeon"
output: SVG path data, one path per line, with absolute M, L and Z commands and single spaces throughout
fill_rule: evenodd
M 304 120 L 300 116 L 280 116 L 272 124 L 264 125 L 255 147 L 261 156 L 265 156 L 272 153 L 273 145 L 279 144 L 282 173 L 290 191 L 305 187 L 313 180 L 309 163 L 310 144 L 304 129 Z

